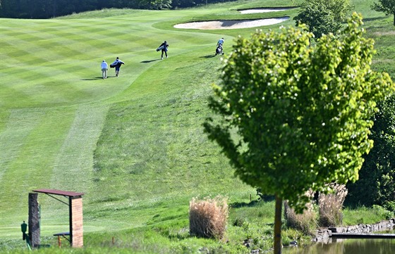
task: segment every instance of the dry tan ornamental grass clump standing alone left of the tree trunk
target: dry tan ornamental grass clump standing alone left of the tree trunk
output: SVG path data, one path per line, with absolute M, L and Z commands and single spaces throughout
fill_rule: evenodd
M 226 198 L 193 198 L 189 203 L 189 231 L 193 236 L 221 239 L 229 208 Z

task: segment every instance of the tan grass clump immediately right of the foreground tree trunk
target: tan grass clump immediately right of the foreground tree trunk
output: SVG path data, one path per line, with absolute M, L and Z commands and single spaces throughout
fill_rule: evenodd
M 308 191 L 306 196 L 312 198 L 314 193 L 312 191 Z M 288 205 L 288 201 L 284 201 L 284 217 L 286 220 L 286 227 L 298 229 L 303 231 L 305 234 L 312 234 L 317 225 L 316 214 L 311 202 L 307 203 L 305 206 L 306 207 L 305 210 L 303 210 L 303 214 L 297 214 L 295 210 L 293 210 L 293 208 Z

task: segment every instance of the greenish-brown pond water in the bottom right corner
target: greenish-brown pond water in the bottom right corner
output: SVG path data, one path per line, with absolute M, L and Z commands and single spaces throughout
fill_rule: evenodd
M 283 254 L 394 254 L 395 239 L 337 239 L 305 248 L 283 248 Z

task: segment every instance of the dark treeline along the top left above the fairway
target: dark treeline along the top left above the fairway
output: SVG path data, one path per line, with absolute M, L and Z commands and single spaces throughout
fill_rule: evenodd
M 232 0 L 0 0 L 0 18 L 54 18 L 102 8 L 175 9 Z

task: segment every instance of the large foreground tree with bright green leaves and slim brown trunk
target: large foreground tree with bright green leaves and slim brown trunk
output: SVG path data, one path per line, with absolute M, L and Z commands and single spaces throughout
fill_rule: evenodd
M 340 33 L 310 45 L 300 28 L 239 37 L 214 86 L 205 131 L 243 182 L 274 195 L 274 253 L 281 253 L 281 203 L 301 212 L 308 189 L 358 179 L 375 101 L 395 90 L 371 70 L 371 39 L 354 14 Z

